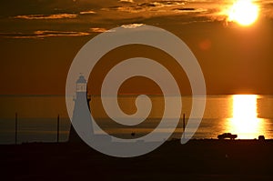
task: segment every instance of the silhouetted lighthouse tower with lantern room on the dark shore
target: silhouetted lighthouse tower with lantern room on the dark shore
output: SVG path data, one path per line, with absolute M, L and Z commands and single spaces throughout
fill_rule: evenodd
M 80 123 L 83 120 L 90 120 L 91 113 L 90 113 L 90 98 L 87 96 L 87 87 L 86 87 L 86 78 L 84 75 L 80 75 L 79 78 L 76 80 L 76 98 L 74 98 L 75 106 L 72 116 L 73 123 Z M 87 104 L 87 106 L 86 106 Z M 88 110 L 86 110 L 86 107 Z M 93 126 L 91 130 L 89 130 L 91 134 L 94 135 Z M 68 142 L 70 143 L 81 143 L 83 142 L 82 139 L 77 135 L 75 128 L 73 125 L 70 127 L 70 134 L 68 138 Z

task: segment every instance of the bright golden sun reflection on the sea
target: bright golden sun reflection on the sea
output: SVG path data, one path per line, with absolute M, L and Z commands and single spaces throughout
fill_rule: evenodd
M 232 118 L 227 121 L 227 132 L 237 134 L 238 139 L 254 139 L 263 135 L 263 119 L 258 118 L 257 95 L 232 96 Z

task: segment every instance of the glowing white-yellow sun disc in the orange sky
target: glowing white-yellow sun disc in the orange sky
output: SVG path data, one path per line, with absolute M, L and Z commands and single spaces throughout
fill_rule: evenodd
M 251 0 L 238 0 L 227 10 L 227 21 L 251 25 L 258 19 L 258 5 Z

